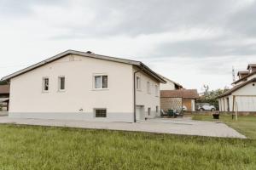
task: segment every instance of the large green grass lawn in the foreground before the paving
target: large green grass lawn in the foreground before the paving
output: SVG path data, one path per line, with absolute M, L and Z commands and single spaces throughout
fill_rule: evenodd
M 256 169 L 256 141 L 0 125 L 0 169 Z

